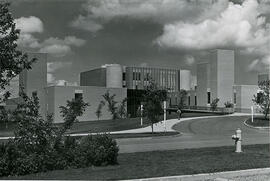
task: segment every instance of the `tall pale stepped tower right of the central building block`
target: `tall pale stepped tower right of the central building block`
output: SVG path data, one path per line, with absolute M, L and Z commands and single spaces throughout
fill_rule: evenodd
M 219 98 L 218 106 L 232 100 L 234 85 L 234 51 L 213 50 L 198 60 L 197 64 L 197 105 L 210 106 Z

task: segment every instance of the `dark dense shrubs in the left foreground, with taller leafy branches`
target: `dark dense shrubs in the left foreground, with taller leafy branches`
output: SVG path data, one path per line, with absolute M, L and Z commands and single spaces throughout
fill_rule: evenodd
M 61 106 L 65 123 L 55 127 L 51 116 L 46 120 L 41 118 L 36 95 L 28 98 L 21 92 L 20 96 L 23 101 L 13 113 L 18 122 L 15 139 L 0 146 L 0 176 L 117 163 L 119 149 L 109 135 L 82 140 L 64 137 L 65 131 L 88 106 L 82 99 L 67 101 L 66 106 Z

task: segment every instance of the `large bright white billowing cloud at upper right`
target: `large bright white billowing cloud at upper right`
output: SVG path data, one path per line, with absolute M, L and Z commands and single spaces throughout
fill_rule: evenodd
M 270 40 L 270 28 L 258 11 L 256 0 L 242 5 L 229 3 L 214 19 L 199 23 L 178 21 L 166 24 L 157 39 L 162 47 L 204 50 L 212 48 L 243 48 L 254 52 L 266 47 Z

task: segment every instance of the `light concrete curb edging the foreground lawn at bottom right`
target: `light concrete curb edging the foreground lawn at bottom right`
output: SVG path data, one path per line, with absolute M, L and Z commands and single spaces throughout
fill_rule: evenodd
M 193 175 L 177 175 L 177 176 L 167 176 L 167 177 L 152 177 L 152 178 L 141 178 L 141 179 L 130 179 L 135 181 L 146 181 L 146 180 L 201 180 L 201 179 L 215 179 L 216 177 L 226 177 L 226 176 L 248 176 L 248 175 L 259 175 L 270 173 L 270 167 L 267 168 L 255 168 L 247 170 L 236 170 L 236 171 L 224 171 L 224 172 L 213 172 L 213 173 L 201 173 Z M 223 179 L 230 180 L 230 179 Z

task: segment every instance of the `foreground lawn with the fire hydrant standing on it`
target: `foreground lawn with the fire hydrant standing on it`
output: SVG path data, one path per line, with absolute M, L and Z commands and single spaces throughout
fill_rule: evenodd
M 231 146 L 125 153 L 119 155 L 119 165 L 115 166 L 57 170 L 2 179 L 118 180 L 270 166 L 269 144 L 243 146 L 243 151 L 243 153 L 235 153 L 234 147 Z

